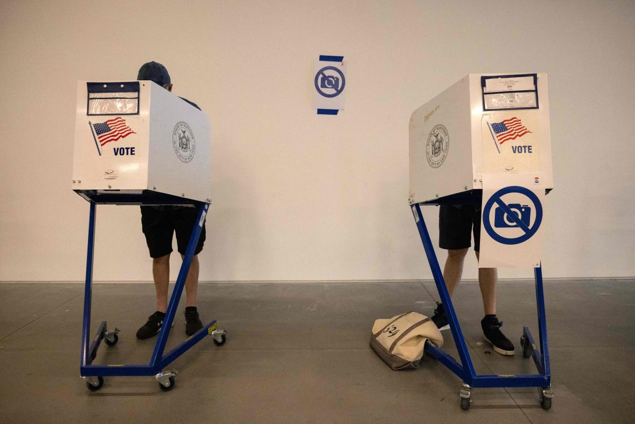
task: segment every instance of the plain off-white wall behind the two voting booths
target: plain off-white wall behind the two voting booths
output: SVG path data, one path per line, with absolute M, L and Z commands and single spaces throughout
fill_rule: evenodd
M 320 54 L 348 62 L 337 117 L 311 107 Z M 83 279 L 76 81 L 149 60 L 213 122 L 201 280 L 431 278 L 410 113 L 469 72 L 515 71 L 549 74 L 545 277 L 635 275 L 632 1 L 3 1 L 0 59 L 0 280 Z M 150 280 L 138 208 L 97 210 L 95 280 Z

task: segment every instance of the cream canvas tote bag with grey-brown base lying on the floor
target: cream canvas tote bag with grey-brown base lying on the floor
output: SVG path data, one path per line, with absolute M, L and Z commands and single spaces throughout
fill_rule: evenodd
M 376 320 L 370 347 L 392 369 L 417 369 L 427 339 L 439 348 L 443 346 L 443 336 L 431 318 L 406 312 Z

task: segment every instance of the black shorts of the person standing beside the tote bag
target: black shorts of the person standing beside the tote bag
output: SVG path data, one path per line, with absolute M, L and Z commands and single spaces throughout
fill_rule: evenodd
M 481 246 L 481 207 L 474 205 L 441 205 L 439 207 L 439 247 L 441 249 L 467 249 L 472 245 L 474 230 L 474 250 Z

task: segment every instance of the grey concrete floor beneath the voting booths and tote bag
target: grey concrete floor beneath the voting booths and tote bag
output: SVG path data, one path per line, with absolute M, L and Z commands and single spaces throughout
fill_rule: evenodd
M 416 371 L 392 371 L 368 346 L 377 318 L 432 315 L 430 282 L 201 284 L 202 318 L 230 333 L 224 346 L 204 338 L 176 360 L 171 392 L 148 377 L 106 378 L 89 392 L 79 379 L 83 285 L 0 284 L 0 421 L 632 422 L 635 280 L 545 282 L 545 296 L 551 411 L 531 388 L 475 389 L 462 411 L 460 380 L 441 364 L 424 357 Z M 537 336 L 533 284 L 501 282 L 498 299 L 514 357 L 481 343 L 478 284 L 464 282 L 454 299 L 476 371 L 535 373 L 518 343 L 523 325 Z M 185 338 L 183 310 L 169 346 Z M 95 284 L 93 331 L 102 320 L 121 329 L 95 363 L 147 363 L 156 339 L 135 332 L 153 311 L 150 284 Z

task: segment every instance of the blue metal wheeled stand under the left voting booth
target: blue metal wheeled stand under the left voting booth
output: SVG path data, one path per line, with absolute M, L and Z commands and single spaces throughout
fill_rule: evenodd
M 81 341 L 81 358 L 79 366 L 79 374 L 86 379 L 86 385 L 91 391 L 99 390 L 104 385 L 105 376 L 152 376 L 158 383 L 161 390 L 171 390 L 175 386 L 175 369 L 165 369 L 168 365 L 185 353 L 189 348 L 196 345 L 205 336 L 210 335 L 215 345 L 221 346 L 225 343 L 226 331 L 217 329 L 216 320 L 212 320 L 203 325 L 196 333 L 192 334 L 183 343 L 168 353 L 164 353 L 170 329 L 174 320 L 185 285 L 185 278 L 192 263 L 194 250 L 203 229 L 204 217 L 210 207 L 209 203 L 197 202 L 195 200 L 187 200 L 177 196 L 156 193 L 154 191 L 142 191 L 140 194 L 117 194 L 117 191 L 104 192 L 96 190 L 76 190 L 76 193 L 90 202 L 90 217 L 88 220 L 88 252 L 86 255 L 86 288 L 84 289 L 84 320 L 82 326 Z M 93 256 L 95 245 L 95 212 L 98 204 L 104 205 L 192 205 L 198 209 L 197 221 L 199 225 L 195 225 L 192 229 L 185 257 L 178 273 L 176 285 L 173 289 L 168 310 L 163 320 L 163 325 L 159 331 L 154 352 L 150 358 L 149 364 L 139 365 L 94 365 L 93 360 L 97 356 L 97 349 L 102 340 L 107 346 L 114 346 L 119 337 L 117 333 L 119 329 L 112 331 L 107 329 L 106 322 L 103 321 L 98 329 L 95 337 L 90 341 L 90 309 L 91 309 L 91 291 L 93 284 Z

